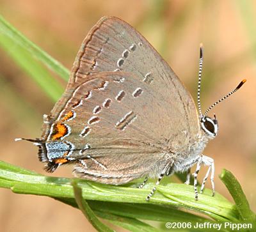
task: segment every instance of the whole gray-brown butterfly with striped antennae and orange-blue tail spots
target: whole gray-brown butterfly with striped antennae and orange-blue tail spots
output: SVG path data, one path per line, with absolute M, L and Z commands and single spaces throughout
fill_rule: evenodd
M 214 160 L 202 155 L 218 133 L 216 116 L 202 114 L 200 82 L 198 111 L 189 91 L 172 68 L 132 26 L 116 17 L 103 17 L 84 39 L 65 93 L 44 115 L 38 146 L 45 170 L 74 164 L 74 174 L 94 182 L 122 185 L 137 178 L 158 178 L 175 172 L 197 175 L 209 167 L 214 195 Z M 19 139 L 18 139 L 19 140 Z M 189 183 L 189 174 L 186 183 Z M 156 186 L 147 196 L 152 197 Z

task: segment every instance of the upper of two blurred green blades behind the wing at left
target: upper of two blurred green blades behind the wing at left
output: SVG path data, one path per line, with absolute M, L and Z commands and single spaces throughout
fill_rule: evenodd
M 47 52 L 40 49 L 35 43 L 31 42 L 26 38 L 22 33 L 20 33 L 15 27 L 13 27 L 9 22 L 7 22 L 0 15 L 0 35 L 7 40 L 12 41 L 13 44 L 19 45 L 25 49 L 33 58 L 41 61 L 46 65 L 50 70 L 57 73 L 64 80 L 68 80 L 69 71 L 61 63 L 53 59 Z

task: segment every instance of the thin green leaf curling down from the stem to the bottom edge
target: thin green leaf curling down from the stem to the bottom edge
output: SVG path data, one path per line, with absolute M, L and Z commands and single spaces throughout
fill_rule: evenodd
M 92 224 L 92 226 L 97 229 L 99 232 L 114 232 L 113 229 L 108 228 L 105 224 L 100 222 L 100 220 L 96 217 L 95 213 L 93 210 L 90 208 L 88 203 L 83 199 L 82 196 L 82 190 L 81 188 L 77 185 L 77 181 L 73 180 L 72 181 L 72 186 L 74 189 L 74 196 L 76 199 L 76 203 L 83 212 L 84 216 L 89 220 L 89 222 Z

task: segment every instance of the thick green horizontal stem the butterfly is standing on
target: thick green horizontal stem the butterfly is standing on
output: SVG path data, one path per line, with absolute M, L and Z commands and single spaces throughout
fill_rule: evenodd
M 20 194 L 35 194 L 54 198 L 73 198 L 72 179 L 54 178 L 38 174 L 23 174 L 20 168 L 0 162 L 0 187 L 12 189 Z M 104 185 L 79 179 L 83 198 L 86 200 L 109 201 L 119 203 L 143 203 L 145 196 L 154 186 L 153 183 L 145 185 L 145 189 L 132 187 Z M 200 194 L 199 201 L 195 201 L 193 187 L 185 184 L 169 183 L 157 187 L 157 192 L 147 205 L 157 204 L 181 207 L 209 215 L 219 221 L 237 221 L 237 208 L 228 202 L 225 197 L 216 194 L 211 196 L 211 190 L 206 189 Z

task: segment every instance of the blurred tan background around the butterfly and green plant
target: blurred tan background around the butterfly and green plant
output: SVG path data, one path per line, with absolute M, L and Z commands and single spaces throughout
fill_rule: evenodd
M 211 112 L 216 113 L 220 130 L 204 153 L 215 160 L 216 190 L 231 199 L 218 178 L 221 169 L 226 168 L 236 175 L 256 210 L 255 1 L 1 0 L 0 13 L 68 69 L 97 20 L 103 15 L 120 17 L 152 43 L 194 99 L 199 44 L 204 43 L 203 110 L 243 78 L 248 79 L 243 88 Z M 54 102 L 1 47 L 0 77 L 0 159 L 45 174 L 37 148 L 30 143 L 14 143 L 13 139 L 40 137 L 42 115 L 51 111 Z M 71 176 L 71 167 L 62 167 L 54 175 Z M 0 189 L 0 231 L 95 229 L 70 206 L 47 197 Z

